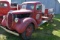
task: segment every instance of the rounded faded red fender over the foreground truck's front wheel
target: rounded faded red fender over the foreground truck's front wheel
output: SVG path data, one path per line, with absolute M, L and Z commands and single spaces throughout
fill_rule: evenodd
M 21 24 L 16 25 L 16 31 L 18 33 L 23 33 L 30 23 L 34 23 L 35 28 L 38 27 L 36 21 L 33 18 L 24 18 Z

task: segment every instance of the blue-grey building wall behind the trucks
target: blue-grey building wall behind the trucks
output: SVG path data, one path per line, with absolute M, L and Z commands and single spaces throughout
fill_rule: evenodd
M 58 2 L 58 0 L 11 0 L 11 1 L 17 2 L 18 4 L 21 4 L 22 2 L 25 1 L 40 1 L 46 6 L 46 8 L 53 8 L 55 14 L 60 13 L 60 3 Z

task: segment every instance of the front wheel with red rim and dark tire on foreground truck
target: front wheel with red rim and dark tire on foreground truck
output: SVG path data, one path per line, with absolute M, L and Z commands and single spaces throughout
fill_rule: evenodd
M 29 24 L 26 30 L 21 34 L 23 40 L 29 40 L 32 36 L 33 30 L 33 24 Z

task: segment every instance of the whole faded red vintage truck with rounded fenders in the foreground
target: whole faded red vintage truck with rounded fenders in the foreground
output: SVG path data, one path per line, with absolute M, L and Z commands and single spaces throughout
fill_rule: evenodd
M 35 29 L 52 18 L 53 15 L 39 1 L 23 2 L 20 10 L 4 15 L 1 28 L 28 40 Z

